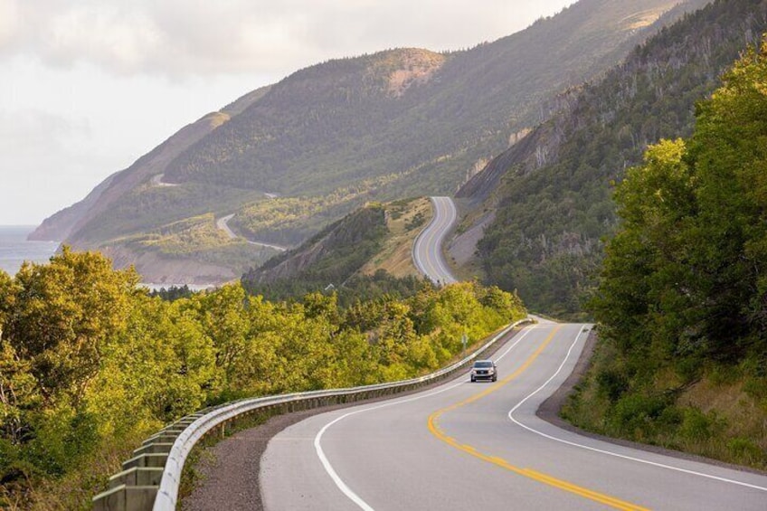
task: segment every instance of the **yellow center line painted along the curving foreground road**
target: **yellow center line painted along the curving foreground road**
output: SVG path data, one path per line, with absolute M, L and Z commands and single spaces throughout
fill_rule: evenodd
M 455 449 L 459 449 L 475 458 L 482 459 L 483 461 L 492 463 L 493 465 L 496 465 L 497 467 L 505 468 L 511 472 L 514 472 L 515 474 L 518 474 L 526 478 L 531 478 L 540 483 L 544 483 L 545 485 L 548 485 L 550 487 L 556 487 L 556 488 L 562 489 L 564 491 L 573 493 L 574 495 L 577 495 L 579 497 L 588 498 L 590 500 L 599 502 L 606 506 L 611 506 L 615 509 L 624 509 L 627 511 L 648 511 L 646 507 L 637 506 L 635 504 L 631 504 L 630 502 L 626 502 L 624 500 L 620 500 L 619 498 L 611 497 L 609 495 L 605 495 L 603 493 L 599 493 L 585 487 L 579 487 L 578 485 L 575 485 L 563 479 L 554 478 L 552 476 L 544 474 L 543 472 L 538 472 L 532 468 L 515 467 L 514 465 L 510 464 L 506 459 L 498 458 L 497 456 L 488 456 L 487 454 L 483 454 L 482 452 L 479 452 L 477 449 L 467 444 L 460 443 L 458 440 L 455 440 L 454 438 L 449 437 L 447 434 L 445 434 L 444 431 L 442 431 L 442 429 L 437 423 L 438 419 L 440 418 L 442 414 L 457 410 L 461 406 L 464 406 L 471 402 L 476 402 L 482 399 L 483 397 L 486 397 L 488 394 L 496 392 L 498 389 L 500 389 L 507 383 L 516 379 L 516 377 L 518 377 L 520 374 L 524 373 L 526 369 L 530 366 L 530 364 L 533 364 L 533 362 L 538 357 L 538 355 L 541 355 L 541 353 L 544 351 L 546 346 L 549 345 L 549 343 L 551 343 L 552 339 L 554 339 L 554 336 L 556 335 L 557 331 L 560 328 L 561 326 L 556 326 L 554 330 L 552 330 L 552 333 L 548 337 L 546 337 L 543 344 L 538 346 L 538 348 L 535 350 L 533 355 L 530 355 L 529 358 L 527 358 L 527 360 L 525 361 L 525 363 L 522 364 L 514 372 L 514 374 L 510 374 L 509 376 L 507 376 L 500 382 L 489 387 L 487 390 L 469 397 L 469 399 L 466 399 L 462 402 L 458 402 L 456 404 L 452 404 L 445 408 L 441 408 L 440 410 L 436 412 L 433 412 L 429 416 L 429 421 L 428 421 L 429 431 L 431 431 L 431 434 L 437 437 L 439 440 L 442 440 L 443 442 L 445 442 L 446 444 L 450 445 L 451 447 Z

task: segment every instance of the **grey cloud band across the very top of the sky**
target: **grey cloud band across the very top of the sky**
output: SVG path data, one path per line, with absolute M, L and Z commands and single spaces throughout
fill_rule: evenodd
M 287 74 L 395 46 L 473 46 L 513 33 L 542 9 L 509 0 L 0 0 L 0 53 L 117 74 Z

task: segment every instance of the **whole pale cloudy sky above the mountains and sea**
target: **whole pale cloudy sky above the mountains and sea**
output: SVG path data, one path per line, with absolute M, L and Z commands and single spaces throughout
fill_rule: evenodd
M 317 62 L 470 48 L 573 0 L 0 0 L 0 225 L 36 225 L 186 124 Z

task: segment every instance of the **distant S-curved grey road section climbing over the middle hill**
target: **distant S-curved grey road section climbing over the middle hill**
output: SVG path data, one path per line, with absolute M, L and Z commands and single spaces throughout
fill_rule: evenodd
M 442 255 L 442 242 L 458 218 L 450 197 L 430 197 L 434 216 L 412 246 L 415 267 L 436 284 L 453 284 L 458 280 L 450 273 Z

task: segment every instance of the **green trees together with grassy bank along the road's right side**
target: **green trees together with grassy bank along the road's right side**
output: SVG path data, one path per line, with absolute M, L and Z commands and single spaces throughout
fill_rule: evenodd
M 618 187 L 602 345 L 569 413 L 767 468 L 767 39 L 723 82 L 693 136 L 650 147 Z M 716 388 L 729 395 L 707 401 Z

